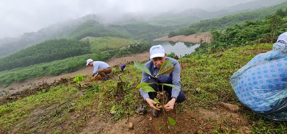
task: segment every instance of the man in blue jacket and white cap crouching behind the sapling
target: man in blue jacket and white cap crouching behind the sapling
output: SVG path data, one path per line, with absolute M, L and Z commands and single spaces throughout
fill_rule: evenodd
M 169 83 L 173 84 L 180 88 L 180 91 L 178 91 L 176 88 L 170 87 L 170 86 L 163 86 L 163 90 L 167 91 L 168 93 L 168 99 L 169 102 L 165 105 L 165 109 L 167 111 L 172 110 L 174 107 L 175 102 L 182 102 L 186 99 L 185 94 L 182 91 L 181 85 L 180 85 L 180 66 L 177 60 L 167 57 L 167 53 L 165 52 L 165 49 L 161 45 L 153 46 L 150 49 L 150 61 L 148 61 L 145 66 L 149 69 L 151 74 L 153 76 L 157 75 L 159 72 L 159 69 L 163 62 L 166 60 L 172 60 L 174 70 L 171 73 L 165 74 L 165 75 L 159 75 L 157 80 L 158 83 Z M 147 73 L 142 72 L 142 78 L 141 83 L 154 83 L 156 82 L 155 78 L 151 78 Z M 157 84 L 151 84 L 151 87 L 154 88 L 154 90 L 157 92 Z M 140 95 L 147 101 L 147 103 L 152 108 L 152 116 L 157 117 L 158 110 L 161 107 L 156 107 L 156 102 L 153 101 L 154 98 L 156 98 L 157 93 L 156 92 L 149 92 L 144 93 L 142 92 L 142 88 L 140 88 Z

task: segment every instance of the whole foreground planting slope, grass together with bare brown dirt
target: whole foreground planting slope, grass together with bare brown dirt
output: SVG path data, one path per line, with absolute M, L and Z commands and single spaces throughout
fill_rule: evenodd
M 261 118 L 240 105 L 229 83 L 229 78 L 241 66 L 255 55 L 270 50 L 270 43 L 254 44 L 214 53 L 193 54 L 179 60 L 182 67 L 181 84 L 187 100 L 177 104 L 176 113 L 168 113 L 177 122 L 175 126 L 170 126 L 169 132 L 287 132 L 287 122 Z M 128 64 L 124 72 L 114 68 L 111 76 L 112 79 L 105 82 L 83 82 L 83 90 L 76 88 L 73 82 L 65 82 L 15 101 L 7 103 L 2 100 L 1 129 L 4 133 L 165 131 L 162 114 L 158 118 L 150 118 L 150 112 L 142 116 L 135 114 L 138 106 L 146 105 L 136 88 L 141 71 Z M 85 79 L 89 78 L 87 76 Z M 237 104 L 240 110 L 224 110 L 220 102 Z M 134 123 L 134 129 L 128 129 L 129 122 Z

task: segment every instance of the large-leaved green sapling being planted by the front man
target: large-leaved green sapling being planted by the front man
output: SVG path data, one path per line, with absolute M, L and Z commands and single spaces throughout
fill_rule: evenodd
M 157 84 L 157 93 L 159 94 L 159 85 L 161 85 L 161 91 L 162 91 L 162 94 L 163 94 L 163 85 L 166 85 L 166 86 L 171 86 L 171 87 L 174 87 L 176 88 L 177 90 L 180 91 L 180 88 L 173 85 L 173 84 L 168 84 L 168 83 L 158 83 L 158 76 L 159 75 L 162 75 L 162 74 L 168 74 L 168 73 L 171 73 L 173 70 L 174 70 L 174 66 L 173 66 L 173 61 L 171 60 L 166 60 L 165 62 L 162 63 L 160 69 L 159 69 L 159 72 L 157 73 L 156 76 L 152 76 L 151 72 L 149 71 L 149 69 L 142 65 L 141 63 L 139 62 L 134 62 L 134 65 L 139 68 L 140 70 L 144 71 L 145 73 L 149 74 L 150 77 L 153 77 L 156 79 L 156 82 L 153 82 L 153 83 L 146 83 L 146 82 L 142 82 L 140 84 L 137 85 L 137 88 L 140 88 L 142 87 L 142 92 L 145 92 L 145 93 L 149 93 L 149 92 L 155 92 L 155 90 L 150 86 L 150 84 Z M 154 98 L 154 101 L 157 102 L 156 106 L 160 106 L 162 105 L 162 109 L 163 109 L 163 114 L 165 115 L 165 118 L 166 118 L 166 110 L 165 110 L 165 100 L 164 100 L 164 95 L 161 96 L 161 100 L 162 100 L 162 103 L 160 103 L 156 98 Z M 175 125 L 175 120 L 173 120 L 171 117 L 168 117 L 169 119 L 169 122 L 171 125 Z M 167 122 L 167 121 L 166 121 Z

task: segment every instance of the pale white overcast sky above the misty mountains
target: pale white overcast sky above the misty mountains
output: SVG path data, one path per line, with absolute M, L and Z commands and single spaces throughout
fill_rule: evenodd
M 17 37 L 69 19 L 94 13 L 137 13 L 205 10 L 255 0 L 3 0 L 0 2 L 0 38 Z

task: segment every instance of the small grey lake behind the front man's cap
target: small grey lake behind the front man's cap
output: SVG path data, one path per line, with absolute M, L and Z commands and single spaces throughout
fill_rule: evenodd
M 195 51 L 195 48 L 200 46 L 200 43 L 189 43 L 189 42 L 172 42 L 172 41 L 154 41 L 165 48 L 166 53 L 170 54 L 174 52 L 178 57 L 183 57 L 186 54 L 191 54 Z

